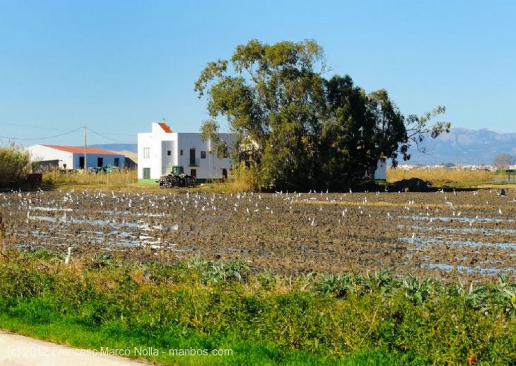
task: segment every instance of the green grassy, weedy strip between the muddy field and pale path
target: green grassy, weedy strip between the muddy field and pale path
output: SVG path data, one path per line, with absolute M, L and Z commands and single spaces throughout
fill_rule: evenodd
M 516 285 L 3 248 L 0 328 L 162 364 L 515 364 Z

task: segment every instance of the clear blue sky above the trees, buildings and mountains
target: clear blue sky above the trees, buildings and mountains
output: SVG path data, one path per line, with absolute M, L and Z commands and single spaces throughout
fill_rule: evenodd
M 453 127 L 516 132 L 514 19 L 514 1 L 0 0 L 0 143 L 197 132 L 194 82 L 250 39 L 314 39 L 328 77 L 385 88 L 406 115 L 444 105 Z

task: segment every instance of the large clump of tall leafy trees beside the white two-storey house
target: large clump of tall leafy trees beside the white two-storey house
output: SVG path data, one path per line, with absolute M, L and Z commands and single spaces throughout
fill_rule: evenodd
M 314 40 L 238 45 L 195 83 L 212 117 L 203 138 L 222 146 L 216 119 L 227 119 L 238 137 L 234 169 L 249 170 L 256 189 L 340 189 L 372 178 L 379 159 L 408 160 L 411 143 L 449 129 L 427 124 L 444 107 L 405 118 L 386 90 L 366 94 L 349 75 L 325 79 L 327 71 Z

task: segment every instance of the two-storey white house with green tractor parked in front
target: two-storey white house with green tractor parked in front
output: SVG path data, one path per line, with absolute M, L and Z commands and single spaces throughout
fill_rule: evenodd
M 219 134 L 231 144 L 232 134 Z M 138 179 L 159 179 L 174 165 L 197 179 L 227 178 L 233 161 L 218 158 L 215 144 L 200 133 L 173 132 L 164 122 L 152 123 L 152 132 L 138 134 Z

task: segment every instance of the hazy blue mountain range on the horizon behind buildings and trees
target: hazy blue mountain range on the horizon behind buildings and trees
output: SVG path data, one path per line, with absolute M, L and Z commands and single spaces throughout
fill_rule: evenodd
M 516 133 L 497 134 L 486 128 L 479 130 L 452 128 L 449 134 L 441 134 L 437 139 L 427 137 L 423 141 L 426 153 L 420 153 L 412 146 L 409 161 L 400 164 L 415 165 L 490 165 L 500 154 L 516 156 Z M 98 144 L 91 145 L 110 151 L 131 151 L 136 153 L 137 144 Z

